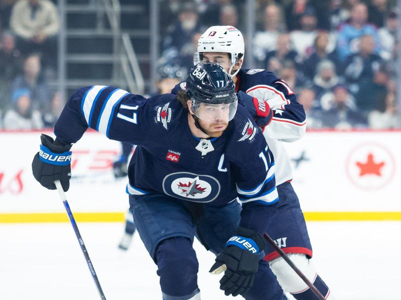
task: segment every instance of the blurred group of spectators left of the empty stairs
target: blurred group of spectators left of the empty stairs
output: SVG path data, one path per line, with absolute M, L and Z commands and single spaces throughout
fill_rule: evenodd
M 0 128 L 52 127 L 64 101 L 56 77 L 59 14 L 50 0 L 0 2 Z

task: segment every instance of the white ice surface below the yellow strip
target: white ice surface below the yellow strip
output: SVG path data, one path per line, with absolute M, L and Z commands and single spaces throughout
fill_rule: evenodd
M 140 238 L 121 251 L 123 223 L 78 223 L 108 300 L 160 300 L 156 266 Z M 336 299 L 401 299 L 401 222 L 308 222 L 314 258 Z M 0 225 L 1 300 L 97 300 L 70 223 Z M 195 242 L 202 299 L 234 299 L 208 273 L 213 254 Z M 236 297 L 237 299 L 241 297 Z

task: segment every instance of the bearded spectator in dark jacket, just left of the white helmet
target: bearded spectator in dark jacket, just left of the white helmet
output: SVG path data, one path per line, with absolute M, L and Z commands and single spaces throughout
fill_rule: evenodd
M 170 28 L 163 40 L 162 56 L 180 57 L 182 49 L 191 47 L 192 36 L 201 30 L 196 4 L 193 1 L 185 1 L 178 14 L 178 21 Z

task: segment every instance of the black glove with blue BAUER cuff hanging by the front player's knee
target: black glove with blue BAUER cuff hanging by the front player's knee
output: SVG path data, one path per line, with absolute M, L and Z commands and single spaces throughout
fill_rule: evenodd
M 227 296 L 242 295 L 252 287 L 259 267 L 258 253 L 265 248 L 265 242 L 259 233 L 243 227 L 239 227 L 236 233 L 237 235 L 228 240 L 226 248 L 216 257 L 216 262 L 210 269 L 212 274 L 225 271 L 220 280 L 220 289 Z

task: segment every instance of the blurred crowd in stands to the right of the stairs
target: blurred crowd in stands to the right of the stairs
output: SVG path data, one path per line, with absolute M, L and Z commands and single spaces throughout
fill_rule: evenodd
M 397 11 L 395 0 L 259 0 L 252 48 L 257 68 L 297 93 L 308 128 L 394 128 Z M 162 55 L 189 68 L 210 25 L 245 32 L 246 1 L 162 1 Z

